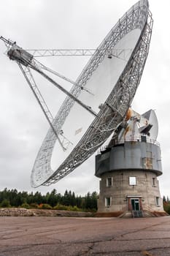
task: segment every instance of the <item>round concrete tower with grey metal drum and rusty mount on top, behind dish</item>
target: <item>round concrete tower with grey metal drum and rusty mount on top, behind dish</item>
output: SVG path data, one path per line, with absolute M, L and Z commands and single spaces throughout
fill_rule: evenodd
M 142 216 L 161 213 L 157 178 L 162 174 L 161 149 L 156 141 L 155 112 L 140 116 L 129 110 L 126 121 L 117 140 L 96 156 L 96 176 L 101 178 L 98 212 Z

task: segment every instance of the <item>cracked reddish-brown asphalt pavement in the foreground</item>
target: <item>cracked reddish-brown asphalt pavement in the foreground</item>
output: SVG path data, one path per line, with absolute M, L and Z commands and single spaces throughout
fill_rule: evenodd
M 0 217 L 0 256 L 168 256 L 170 217 Z

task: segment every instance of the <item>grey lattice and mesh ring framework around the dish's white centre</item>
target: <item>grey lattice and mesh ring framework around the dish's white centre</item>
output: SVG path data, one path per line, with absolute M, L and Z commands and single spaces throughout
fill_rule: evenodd
M 128 34 L 134 29 L 141 29 L 141 37 L 131 54 L 131 58 L 126 64 L 122 75 L 98 113 L 98 116 L 94 119 L 87 132 L 85 132 L 85 135 L 77 146 L 75 146 L 72 153 L 69 154 L 69 157 L 66 158 L 55 172 L 51 169 L 50 160 L 57 138 L 53 129 L 50 128 L 47 132 L 34 163 L 31 175 L 31 185 L 33 187 L 35 186 L 35 179 L 39 180 L 43 177 L 43 180 L 46 179 L 46 181 L 43 182 L 42 185 L 50 185 L 71 173 L 75 167 L 84 162 L 85 159 L 88 159 L 88 157 L 90 157 L 97 148 L 107 140 L 109 135 L 111 135 L 123 121 L 125 113 L 131 105 L 142 77 L 150 46 L 152 16 L 148 10 L 147 0 L 143 1 L 142 6 L 140 4 L 134 5 L 134 7 L 126 12 L 123 18 L 119 20 L 115 27 L 110 31 L 109 35 L 103 42 L 101 42 L 101 45 L 93 54 L 92 59 L 90 59 L 80 77 L 77 79 L 76 83 L 80 87 L 73 86 L 71 90 L 74 97 L 78 97 L 80 95 L 81 86 L 85 86 L 98 65 L 103 61 L 104 56 L 108 53 L 112 53 L 112 48 L 114 48 L 117 42 L 119 42 L 125 34 Z M 53 126 L 55 127 L 56 132 L 61 130 L 73 105 L 74 100 L 70 97 L 66 97 L 53 121 Z

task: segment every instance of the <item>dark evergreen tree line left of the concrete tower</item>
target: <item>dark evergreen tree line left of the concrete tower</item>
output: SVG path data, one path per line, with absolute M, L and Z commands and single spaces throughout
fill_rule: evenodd
M 97 210 L 97 192 L 88 192 L 87 195 L 75 195 L 74 192 L 66 190 L 64 195 L 58 193 L 56 189 L 52 192 L 47 192 L 46 195 L 42 195 L 41 192 L 18 192 L 17 189 L 7 189 L 0 191 L 0 207 L 20 207 L 26 206 L 26 208 L 58 208 L 67 209 L 82 209 L 85 211 Z

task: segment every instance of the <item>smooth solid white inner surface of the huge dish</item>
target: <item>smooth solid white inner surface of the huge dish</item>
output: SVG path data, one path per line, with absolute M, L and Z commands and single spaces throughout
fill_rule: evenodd
M 139 29 L 131 31 L 117 43 L 116 48 L 130 48 L 131 50 L 134 50 L 139 35 Z M 82 91 L 78 98 L 98 113 L 98 106 L 106 101 L 118 78 L 120 78 L 129 57 L 130 56 L 123 59 L 124 56 L 120 55 L 120 58 L 112 56 L 112 59 L 109 59 L 108 56 L 105 56 L 98 69 L 93 72 L 93 75 L 85 86 L 92 92 L 92 94 L 89 94 L 87 91 Z M 51 159 L 51 167 L 53 169 L 57 169 L 63 160 L 69 156 L 74 146 L 77 145 L 82 138 L 82 135 L 87 131 L 93 119 L 93 115 L 78 105 L 77 102 L 74 103 L 74 106 L 62 127 L 63 135 L 68 138 L 72 144 L 69 145 L 69 148 L 67 148 L 66 151 L 63 151 L 58 141 L 55 143 Z

